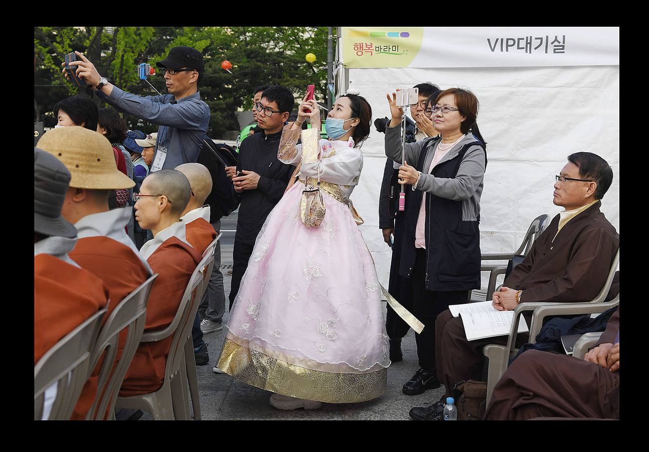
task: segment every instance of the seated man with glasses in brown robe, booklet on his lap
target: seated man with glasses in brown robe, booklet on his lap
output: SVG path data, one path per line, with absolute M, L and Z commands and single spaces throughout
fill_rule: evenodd
M 600 212 L 613 170 L 606 160 L 589 152 L 569 155 L 554 184 L 554 204 L 564 207 L 534 242 L 527 257 L 493 294 L 498 310 L 513 310 L 519 303 L 591 301 L 602 289 L 620 245 L 615 227 Z M 531 312 L 523 314 L 528 323 Z M 442 312 L 435 322 L 435 359 L 446 394 L 430 407 L 415 407 L 410 416 L 430 418 L 436 405 L 452 397 L 454 384 L 481 380 L 484 345 L 507 344 L 507 336 L 469 342 L 461 318 Z M 517 345 L 528 342 L 517 335 Z M 525 354 L 523 354 L 525 355 Z

